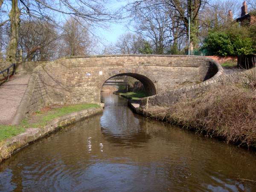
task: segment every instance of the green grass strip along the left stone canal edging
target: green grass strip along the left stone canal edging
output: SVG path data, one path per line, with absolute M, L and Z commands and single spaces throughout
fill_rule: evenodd
M 88 108 L 99 108 L 96 104 L 77 104 L 68 106 L 52 106 L 37 111 L 32 116 L 23 119 L 20 125 L 0 125 L 0 142 L 8 138 L 14 137 L 25 131 L 25 128 L 41 128 L 47 125 L 53 119 L 81 111 Z

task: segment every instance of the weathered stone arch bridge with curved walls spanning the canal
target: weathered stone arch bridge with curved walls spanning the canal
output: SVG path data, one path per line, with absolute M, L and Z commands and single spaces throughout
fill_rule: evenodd
M 37 66 L 38 65 L 38 66 Z M 212 79 L 222 67 L 212 59 L 189 55 L 98 55 L 25 63 L 33 69 L 16 112 L 26 113 L 48 104 L 100 103 L 102 85 L 115 76 L 141 81 L 147 96 Z M 207 80 L 207 81 L 208 81 Z M 17 122 L 18 120 L 16 120 Z

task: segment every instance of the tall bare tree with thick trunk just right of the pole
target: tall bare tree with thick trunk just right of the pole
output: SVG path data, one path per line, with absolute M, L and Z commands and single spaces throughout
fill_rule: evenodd
M 176 39 L 175 31 L 173 29 L 178 29 L 177 34 L 180 34 L 180 37 L 183 34 L 189 35 L 189 17 L 190 17 L 190 49 L 193 49 L 194 46 L 198 45 L 198 32 L 199 32 L 199 19 L 198 15 L 204 9 L 204 6 L 208 3 L 209 0 L 137 0 L 132 3 L 128 3 L 128 10 L 132 12 L 137 12 L 140 14 L 140 7 L 143 7 L 143 10 L 152 9 L 160 10 L 157 14 L 162 12 L 161 17 L 165 18 L 161 20 L 164 22 L 162 25 L 163 29 L 160 31 L 166 32 L 168 34 L 168 28 L 165 30 L 166 26 L 171 26 L 172 30 L 169 29 L 170 36 L 173 38 L 171 41 Z M 151 17 L 152 18 L 152 17 Z M 154 18 L 154 17 L 153 17 Z M 171 21 L 170 21 L 171 20 Z M 142 20 L 143 21 L 143 20 Z M 167 23 L 166 23 L 167 22 Z M 140 23 L 140 22 L 139 22 Z M 159 22 L 153 24 L 153 26 L 158 27 Z M 154 32 L 153 32 L 154 33 Z M 167 36 L 168 37 L 168 36 Z M 164 38 L 165 39 L 165 38 Z M 160 42 L 162 39 L 159 39 Z M 176 42 L 177 43 L 177 42 Z

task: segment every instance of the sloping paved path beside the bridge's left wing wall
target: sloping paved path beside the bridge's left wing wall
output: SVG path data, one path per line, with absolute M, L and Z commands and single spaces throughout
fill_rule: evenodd
M 16 76 L 0 86 L 0 124 L 9 125 L 25 93 L 30 75 Z

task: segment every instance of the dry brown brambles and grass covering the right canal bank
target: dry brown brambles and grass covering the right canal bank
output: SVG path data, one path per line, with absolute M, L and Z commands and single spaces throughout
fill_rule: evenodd
M 224 138 L 227 143 L 256 147 L 256 96 L 252 89 L 227 84 L 192 101 L 151 106 L 147 112 L 199 134 Z

